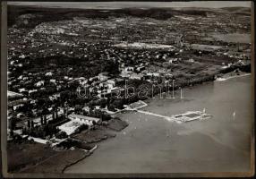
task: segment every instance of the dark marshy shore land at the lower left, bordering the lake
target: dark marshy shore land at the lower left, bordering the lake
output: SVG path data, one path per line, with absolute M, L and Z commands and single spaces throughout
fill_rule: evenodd
M 64 173 L 64 170 L 89 157 L 94 150 L 98 149 L 98 143 L 114 138 L 117 132 L 121 132 L 128 124 L 121 119 L 111 119 L 107 126 L 98 126 L 92 131 L 82 131 L 71 136 L 70 140 L 80 142 L 81 145 L 73 146 L 73 149 L 52 149 L 46 144 L 37 141 L 24 140 L 19 145 L 15 141 L 9 141 L 8 161 L 21 158 L 12 164 L 8 164 L 9 172 L 12 173 Z M 68 139 L 66 139 L 68 140 Z M 62 146 L 65 146 L 64 144 Z M 60 147 L 60 146 L 59 146 Z M 61 147 L 60 147 L 61 148 Z M 24 150 L 24 151 L 23 151 Z M 25 152 L 25 150 L 28 150 Z M 40 157 L 40 152 L 45 155 Z M 35 158 L 30 158 L 34 155 Z M 13 159 L 12 159 L 13 158 Z M 23 158 L 23 159 L 22 159 Z M 30 158 L 30 159 L 29 159 Z M 55 161 L 61 161 L 55 162 Z

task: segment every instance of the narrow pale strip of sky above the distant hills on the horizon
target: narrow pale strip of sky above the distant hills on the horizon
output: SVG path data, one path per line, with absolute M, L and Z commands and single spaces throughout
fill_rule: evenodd
M 247 1 L 193 1 L 193 2 L 8 2 L 15 5 L 35 5 L 43 7 L 79 8 L 79 9 L 119 9 L 119 8 L 151 8 L 151 7 L 251 7 Z

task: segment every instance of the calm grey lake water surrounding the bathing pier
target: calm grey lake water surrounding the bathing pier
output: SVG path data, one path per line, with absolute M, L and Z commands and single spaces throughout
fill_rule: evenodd
M 183 99 L 153 98 L 148 110 L 177 115 L 203 110 L 204 121 L 175 124 L 140 113 L 120 114 L 129 126 L 102 141 L 65 173 L 246 172 L 250 169 L 251 76 L 183 90 Z M 235 112 L 235 113 L 234 113 Z M 235 115 L 234 115 L 235 114 Z

